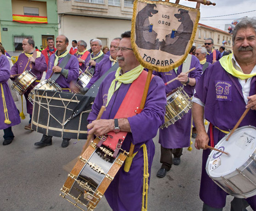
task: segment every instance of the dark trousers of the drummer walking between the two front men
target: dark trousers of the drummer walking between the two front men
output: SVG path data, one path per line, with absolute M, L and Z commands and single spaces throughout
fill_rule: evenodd
M 161 146 L 161 168 L 165 168 L 166 170 L 169 171 L 173 165 L 173 156 L 180 157 L 182 155 L 182 150 L 183 148 L 167 149 Z

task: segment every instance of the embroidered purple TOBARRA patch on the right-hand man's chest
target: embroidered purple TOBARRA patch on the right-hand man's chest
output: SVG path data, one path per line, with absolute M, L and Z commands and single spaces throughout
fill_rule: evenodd
M 216 100 L 232 100 L 232 85 L 230 81 L 215 81 L 215 88 Z

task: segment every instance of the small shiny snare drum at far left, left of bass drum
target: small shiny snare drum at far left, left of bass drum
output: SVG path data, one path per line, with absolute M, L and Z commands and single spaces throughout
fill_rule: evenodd
M 32 72 L 25 70 L 15 79 L 11 85 L 11 89 L 15 90 L 19 95 L 22 95 L 35 80 L 36 76 Z

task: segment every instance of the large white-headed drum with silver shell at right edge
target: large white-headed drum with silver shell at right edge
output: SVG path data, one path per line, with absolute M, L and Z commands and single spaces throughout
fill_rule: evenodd
M 230 155 L 211 151 L 206 172 L 219 187 L 237 198 L 256 195 L 256 128 L 245 126 L 221 139 L 215 148 Z

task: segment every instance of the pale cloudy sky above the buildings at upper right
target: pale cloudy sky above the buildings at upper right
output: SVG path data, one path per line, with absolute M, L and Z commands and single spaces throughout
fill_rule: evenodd
M 171 1 L 173 2 L 173 1 Z M 211 0 L 211 2 L 215 2 L 216 6 L 200 6 L 200 23 L 219 28 L 224 30 L 225 24 L 231 24 L 234 19 L 241 17 L 256 17 L 256 0 Z M 180 0 L 180 4 L 184 6 L 194 7 L 196 6 L 196 2 L 191 2 L 187 0 Z M 255 10 L 255 11 L 253 11 Z M 232 16 L 224 16 L 224 17 L 212 17 L 212 16 L 222 16 L 229 15 L 239 12 L 247 12 L 243 14 L 237 14 Z M 204 18 L 211 17 L 211 18 Z M 222 20 L 217 20 L 222 19 Z

